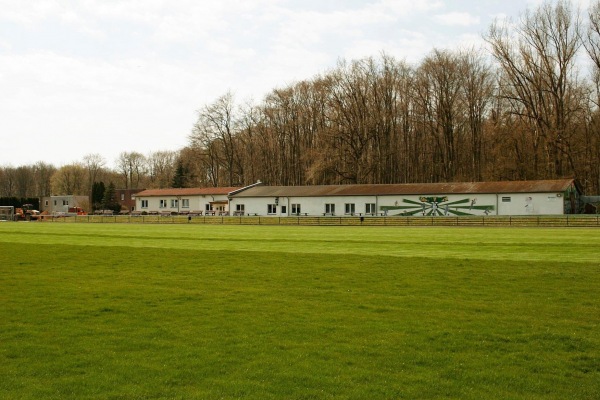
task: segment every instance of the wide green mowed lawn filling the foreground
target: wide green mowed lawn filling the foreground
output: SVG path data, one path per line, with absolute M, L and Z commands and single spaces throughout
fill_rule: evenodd
M 2 399 L 597 399 L 600 230 L 0 223 Z

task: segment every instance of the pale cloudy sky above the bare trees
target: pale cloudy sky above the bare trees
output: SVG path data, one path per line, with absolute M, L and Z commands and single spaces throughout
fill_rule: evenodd
M 479 49 L 495 19 L 540 3 L 0 0 L 0 166 L 178 150 L 228 91 L 259 103 L 341 59 Z

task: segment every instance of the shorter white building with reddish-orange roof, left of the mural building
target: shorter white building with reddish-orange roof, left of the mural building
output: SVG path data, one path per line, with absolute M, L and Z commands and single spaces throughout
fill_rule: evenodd
M 148 189 L 135 194 L 137 212 L 227 215 L 228 195 L 239 187 Z

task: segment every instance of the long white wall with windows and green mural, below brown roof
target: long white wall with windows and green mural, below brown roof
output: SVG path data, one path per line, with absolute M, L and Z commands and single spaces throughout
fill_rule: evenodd
M 388 216 L 562 215 L 564 198 L 562 193 L 234 197 L 230 209 L 243 208 L 246 215 L 287 216 L 294 215 L 296 207 L 293 205 L 298 204 L 302 214 L 323 216 L 331 214 L 333 204 L 336 216 L 352 215 L 352 211 L 354 215 L 375 211 L 378 215 Z

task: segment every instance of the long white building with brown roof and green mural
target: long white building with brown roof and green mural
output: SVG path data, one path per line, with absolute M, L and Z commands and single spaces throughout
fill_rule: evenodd
M 239 215 L 467 216 L 577 213 L 573 179 L 389 185 L 262 186 L 230 195 Z

